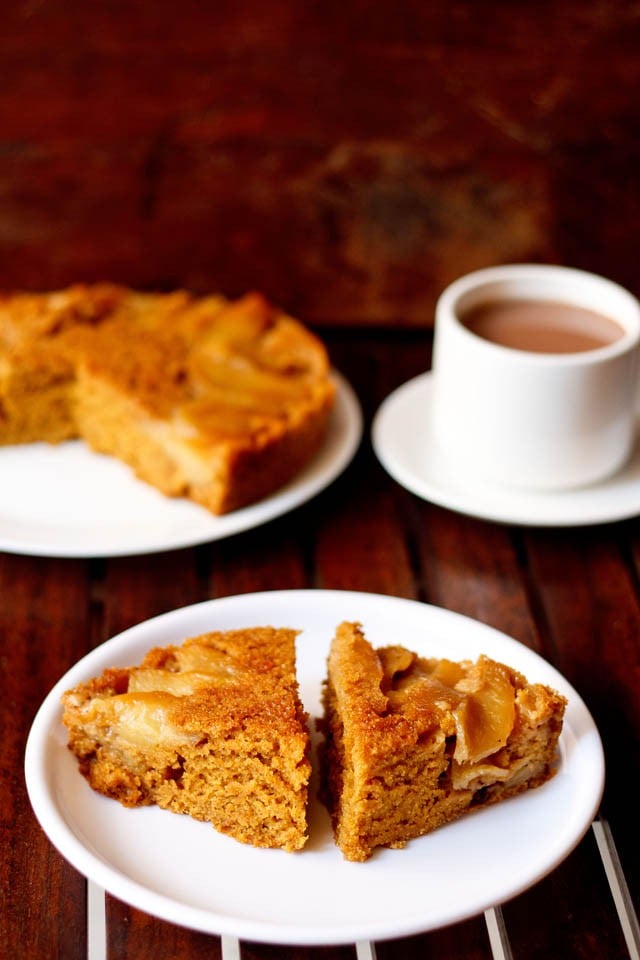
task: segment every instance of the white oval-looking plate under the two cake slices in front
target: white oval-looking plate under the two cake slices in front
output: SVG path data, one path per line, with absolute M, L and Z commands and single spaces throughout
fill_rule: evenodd
M 302 630 L 298 676 L 319 715 L 336 625 L 360 620 L 376 645 L 402 641 L 453 659 L 491 655 L 569 700 L 556 776 L 403 850 L 348 863 L 312 790 L 310 839 L 297 853 L 259 850 L 156 807 L 130 810 L 94 793 L 66 749 L 59 698 L 107 666 L 138 663 L 154 645 L 211 629 L 272 624 Z M 580 841 L 604 780 L 598 732 L 578 694 L 546 661 L 490 627 L 410 600 L 324 590 L 207 601 L 149 620 L 98 647 L 51 691 L 29 735 L 33 809 L 51 842 L 121 900 L 173 923 L 269 943 L 334 944 L 410 935 L 503 902 L 549 873 Z

